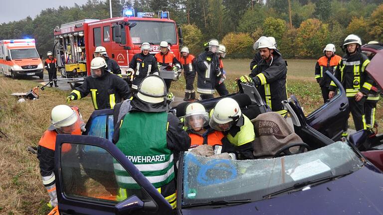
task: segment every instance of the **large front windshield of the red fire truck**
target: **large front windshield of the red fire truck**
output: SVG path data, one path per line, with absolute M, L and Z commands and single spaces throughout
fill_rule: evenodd
M 167 41 L 170 44 L 177 43 L 176 25 L 173 22 L 160 21 L 134 21 L 136 26 L 130 29 L 130 36 L 134 44 L 149 42 L 160 44 Z

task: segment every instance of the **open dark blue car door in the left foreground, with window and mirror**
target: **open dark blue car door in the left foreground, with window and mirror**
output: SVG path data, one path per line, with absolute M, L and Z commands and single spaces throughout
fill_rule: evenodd
M 86 162 L 88 159 L 102 160 L 110 168 Z M 123 171 L 138 188 L 121 190 L 115 171 Z M 111 141 L 102 137 L 57 135 L 55 176 L 61 215 L 172 213 L 172 207 L 145 176 Z

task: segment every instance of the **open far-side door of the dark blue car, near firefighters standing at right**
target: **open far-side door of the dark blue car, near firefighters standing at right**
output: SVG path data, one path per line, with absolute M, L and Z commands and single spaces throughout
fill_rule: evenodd
M 338 94 L 332 100 L 305 116 L 297 98 L 292 95 L 291 99 L 304 123 L 333 140 L 339 140 L 349 117 L 349 102 L 341 83 L 329 71 L 325 74 L 330 76 L 338 87 Z

